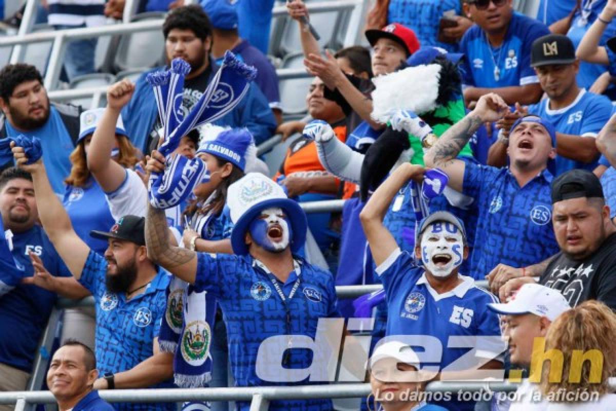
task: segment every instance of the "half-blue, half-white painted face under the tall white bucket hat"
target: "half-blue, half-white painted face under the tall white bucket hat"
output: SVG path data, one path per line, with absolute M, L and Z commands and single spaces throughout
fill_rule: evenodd
M 282 208 L 267 208 L 255 218 L 248 227 L 257 245 L 267 251 L 277 253 L 289 246 L 291 222 Z

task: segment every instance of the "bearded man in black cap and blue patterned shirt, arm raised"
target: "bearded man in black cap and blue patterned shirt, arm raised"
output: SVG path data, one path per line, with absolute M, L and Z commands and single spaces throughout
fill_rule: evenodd
M 108 388 L 113 389 L 113 373 L 128 370 L 158 352 L 164 294 L 171 276 L 147 256 L 145 218 L 128 215 L 109 232 L 92 231 L 94 237 L 109 242 L 104 256 L 100 256 L 73 230 L 68 214 L 51 189 L 42 158 L 28 165 L 22 147 L 14 146 L 12 151 L 17 166 L 32 174 L 36 200 L 45 204 L 39 209 L 39 219 L 49 239 L 73 277 L 94 296 L 97 368 Z M 166 223 L 164 227 L 167 229 Z M 169 385 L 156 385 L 161 386 Z M 175 404 L 116 403 L 114 407 L 121 411 L 162 411 L 174 410 Z

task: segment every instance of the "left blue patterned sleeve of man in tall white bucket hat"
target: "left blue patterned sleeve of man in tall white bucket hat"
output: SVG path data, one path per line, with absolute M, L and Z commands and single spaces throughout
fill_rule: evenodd
M 208 291 L 216 298 L 227 298 L 241 271 L 240 258 L 235 255 L 197 253 L 195 291 Z

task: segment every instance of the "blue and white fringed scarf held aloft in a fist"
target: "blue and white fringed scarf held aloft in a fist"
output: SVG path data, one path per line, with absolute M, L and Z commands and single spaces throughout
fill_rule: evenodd
M 186 116 L 182 111 L 184 76 L 190 65 L 182 59 L 174 59 L 171 69 L 158 71 L 146 80 L 154 89 L 158 114 L 164 128 L 164 142 L 158 149 L 165 157 L 164 173 L 150 176 L 150 204 L 155 208 L 171 208 L 186 200 L 195 185 L 209 181 L 205 163 L 199 158 L 188 160 L 172 155 L 180 140 L 201 124 L 211 123 L 229 113 L 248 92 L 249 83 L 256 70 L 235 58 L 232 52 L 225 53 L 221 68 L 216 72 Z

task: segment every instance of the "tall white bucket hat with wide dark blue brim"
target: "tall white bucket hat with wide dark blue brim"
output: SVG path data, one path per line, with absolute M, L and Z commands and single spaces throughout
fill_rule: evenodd
M 297 201 L 290 200 L 280 185 L 261 173 L 248 173 L 229 186 L 227 205 L 233 230 L 231 246 L 233 253 L 248 254 L 244 237 L 250 223 L 267 208 L 282 208 L 291 222 L 293 237 L 290 239 L 292 253 L 297 253 L 306 242 L 306 213 Z

